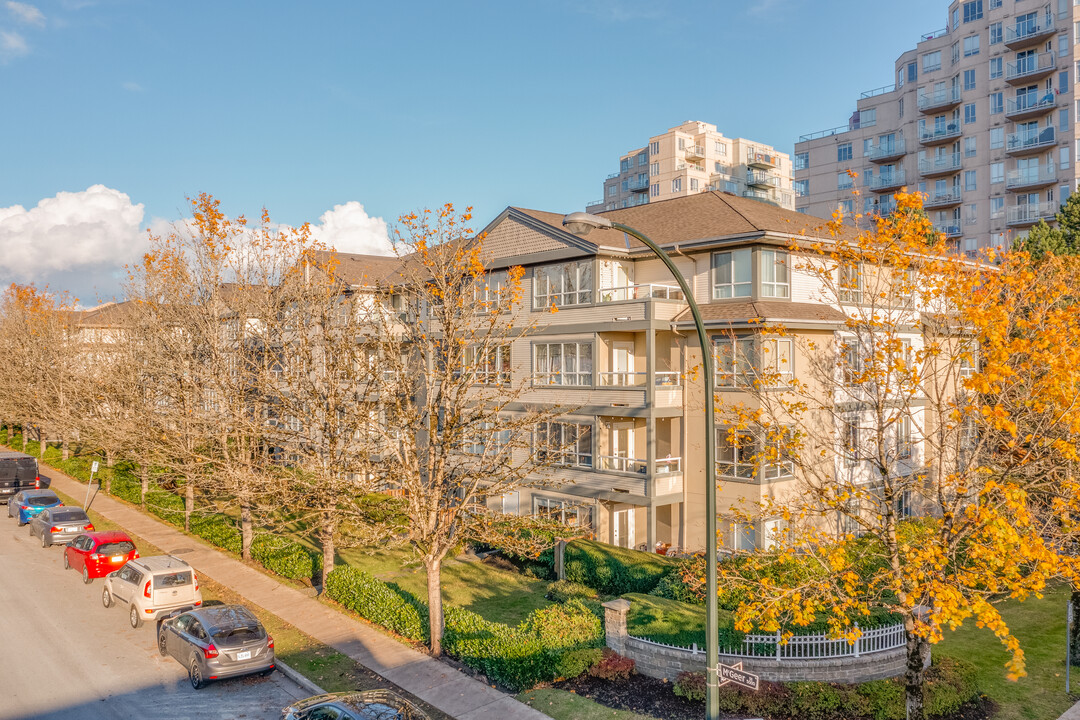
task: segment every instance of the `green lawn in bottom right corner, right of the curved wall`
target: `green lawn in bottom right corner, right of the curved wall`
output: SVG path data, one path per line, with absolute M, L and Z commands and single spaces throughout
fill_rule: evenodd
M 994 720 L 1054 720 L 1075 702 L 1065 694 L 1065 608 L 1069 593 L 1058 588 L 1043 598 L 1007 602 L 1001 611 L 1020 640 L 1027 660 L 1027 677 L 1005 679 L 1009 653 L 994 634 L 968 621 L 934 647 L 933 652 L 961 657 L 978 670 L 978 687 L 1000 709 Z M 1080 688 L 1080 668 L 1072 668 Z M 1076 690 L 1075 690 L 1076 692 Z M 1080 694 L 1080 693 L 1078 693 Z

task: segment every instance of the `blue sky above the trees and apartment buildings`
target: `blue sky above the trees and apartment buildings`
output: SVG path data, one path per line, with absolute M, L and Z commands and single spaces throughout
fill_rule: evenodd
M 445 201 L 480 225 L 510 204 L 580 209 L 620 153 L 685 120 L 791 151 L 888 84 L 945 10 L 0 0 L 0 279 L 107 295 L 131 227 L 181 217 L 200 191 L 291 225 L 353 203 L 357 232 L 377 232 L 365 214 Z M 35 259 L 79 243 L 71 261 Z

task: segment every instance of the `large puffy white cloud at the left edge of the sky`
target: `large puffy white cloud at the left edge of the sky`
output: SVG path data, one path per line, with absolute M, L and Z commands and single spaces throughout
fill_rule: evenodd
M 67 271 L 114 272 L 146 250 L 141 222 L 143 204 L 104 185 L 58 192 L 30 209 L 0 207 L 0 277 L 41 283 Z

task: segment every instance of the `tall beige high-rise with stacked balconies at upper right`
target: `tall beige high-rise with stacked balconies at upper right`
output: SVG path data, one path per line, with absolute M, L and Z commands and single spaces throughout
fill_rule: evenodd
M 796 209 L 887 214 L 906 187 L 968 254 L 1053 221 L 1077 182 L 1078 43 L 1072 0 L 950 3 L 946 27 L 896 59 L 894 84 L 799 138 Z

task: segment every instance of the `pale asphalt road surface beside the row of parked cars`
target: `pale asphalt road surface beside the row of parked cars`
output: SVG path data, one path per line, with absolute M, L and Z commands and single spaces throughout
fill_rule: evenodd
M 0 505 L 0 720 L 281 718 L 308 695 L 279 673 L 192 690 L 179 663 L 161 657 L 154 626 L 137 630 L 102 607 L 102 582 L 64 570 L 60 547 L 42 549 Z

